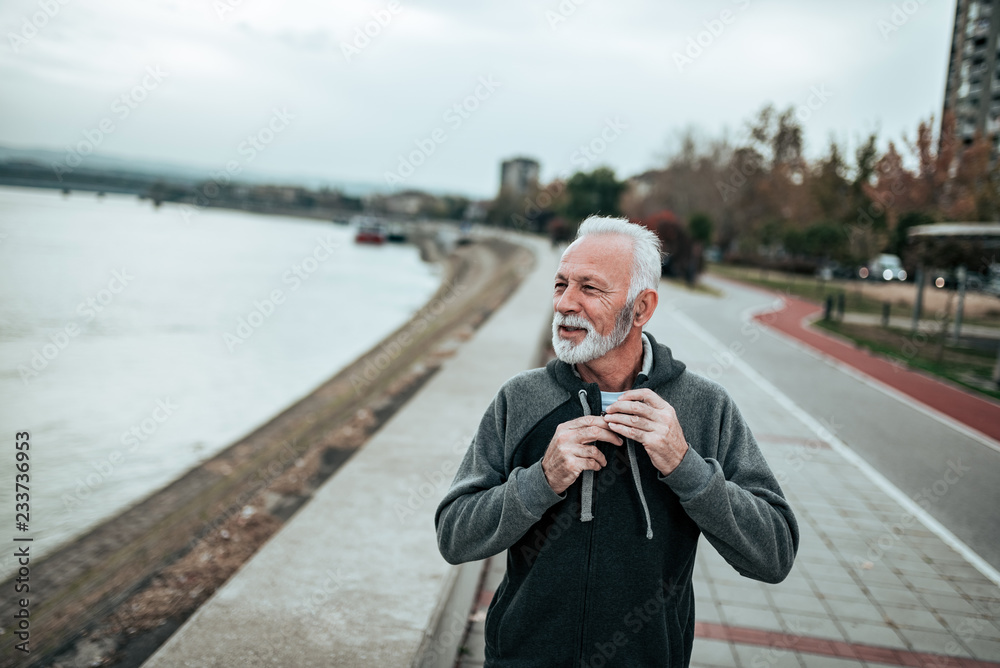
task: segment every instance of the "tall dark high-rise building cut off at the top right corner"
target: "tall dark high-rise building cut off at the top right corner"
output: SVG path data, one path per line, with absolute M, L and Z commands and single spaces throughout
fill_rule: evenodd
M 1000 0 L 957 0 L 944 112 L 954 114 L 963 145 L 978 132 L 993 142 L 994 156 L 1000 145 L 998 32 Z

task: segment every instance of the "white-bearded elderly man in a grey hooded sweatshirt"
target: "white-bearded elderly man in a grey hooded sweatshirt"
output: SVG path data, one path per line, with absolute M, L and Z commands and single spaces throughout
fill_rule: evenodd
M 698 536 L 780 582 L 798 526 L 722 386 L 643 332 L 660 244 L 588 218 L 555 276 L 557 359 L 500 388 L 435 516 L 450 563 L 507 550 L 486 666 L 687 666 Z

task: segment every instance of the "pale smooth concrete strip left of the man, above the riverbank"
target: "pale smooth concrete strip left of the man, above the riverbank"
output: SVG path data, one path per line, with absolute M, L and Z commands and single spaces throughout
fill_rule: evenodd
M 558 256 L 518 291 L 144 666 L 450 666 L 481 564 L 434 510 L 500 385 L 536 365 Z

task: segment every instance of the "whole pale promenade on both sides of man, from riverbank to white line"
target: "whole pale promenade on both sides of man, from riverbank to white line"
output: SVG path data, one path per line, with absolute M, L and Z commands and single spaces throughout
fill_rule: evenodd
M 558 255 L 527 243 L 537 263 L 518 292 L 145 666 L 482 665 L 504 558 L 449 566 L 433 513 L 483 410 L 547 329 Z M 740 577 L 702 541 L 693 665 L 1000 667 L 1000 575 L 684 299 L 701 297 L 663 284 L 650 331 L 734 396 L 802 529 L 779 585 Z

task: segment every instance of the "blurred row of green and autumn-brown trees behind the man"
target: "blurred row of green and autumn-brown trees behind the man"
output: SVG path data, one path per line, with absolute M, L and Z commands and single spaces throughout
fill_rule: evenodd
M 870 134 L 852 152 L 831 141 L 809 160 L 794 110 L 768 105 L 739 141 L 681 134 L 663 168 L 617 180 L 602 167 L 554 181 L 523 197 L 498 198 L 494 223 L 543 231 L 553 219 L 573 228 L 600 212 L 648 220 L 673 212 L 691 236 L 748 261 L 784 258 L 865 262 L 900 253 L 906 230 L 936 221 L 995 220 L 1000 171 L 991 144 L 955 139 L 946 117 L 879 147 Z

